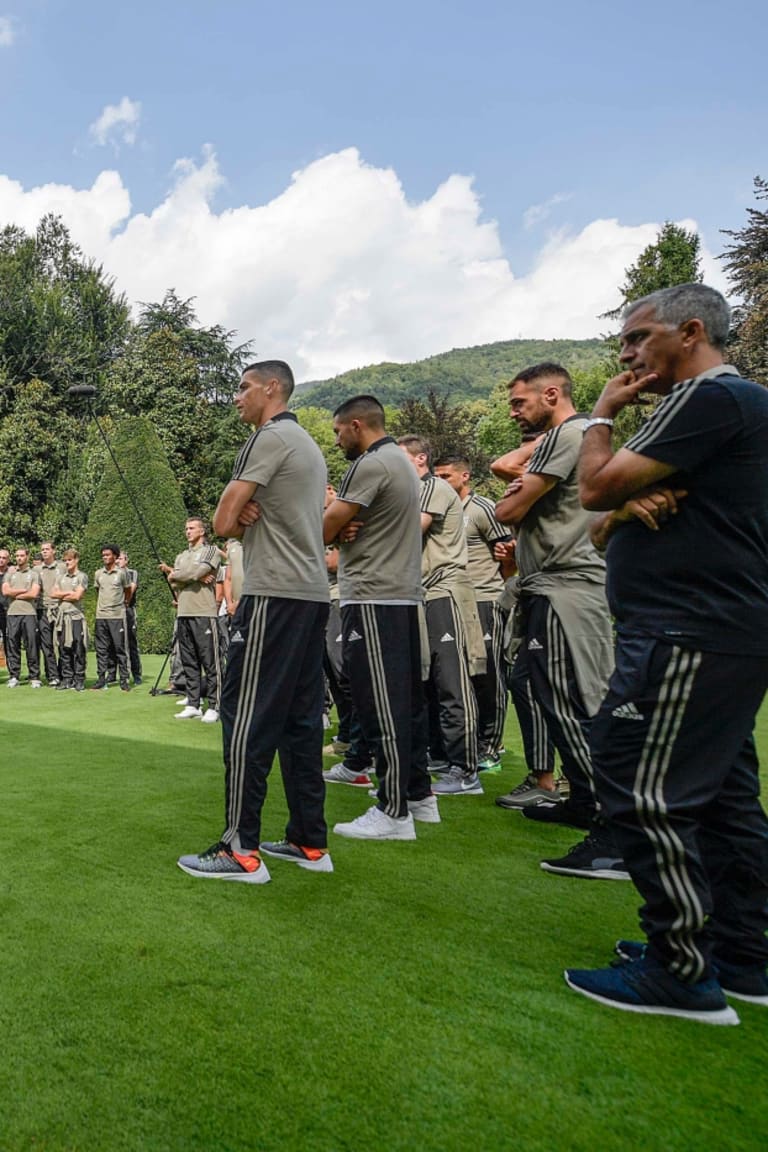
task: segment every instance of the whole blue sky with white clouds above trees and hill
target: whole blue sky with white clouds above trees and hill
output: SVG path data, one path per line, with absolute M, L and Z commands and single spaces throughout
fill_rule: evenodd
M 304 376 L 598 333 L 664 219 L 744 222 L 763 12 L 0 0 L 0 222 L 60 211 Z

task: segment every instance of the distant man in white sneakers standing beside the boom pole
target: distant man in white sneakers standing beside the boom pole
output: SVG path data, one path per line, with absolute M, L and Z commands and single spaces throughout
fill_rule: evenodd
M 221 657 L 216 615 L 216 573 L 219 550 L 207 544 L 205 524 L 190 516 L 184 524 L 188 547 L 170 564 L 160 564 L 176 597 L 176 641 L 184 670 L 187 704 L 176 720 L 203 720 L 215 723 L 221 696 Z M 203 675 L 206 683 L 207 708 L 200 708 Z

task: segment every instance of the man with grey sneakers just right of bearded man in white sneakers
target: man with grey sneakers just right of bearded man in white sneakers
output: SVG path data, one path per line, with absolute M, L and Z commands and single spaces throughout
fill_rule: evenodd
M 431 447 L 418 435 L 397 441 L 420 479 L 421 583 L 429 639 L 432 714 L 438 718 L 448 771 L 440 796 L 482 793 L 478 776 L 478 705 L 471 676 L 485 672 L 485 644 L 474 591 L 466 575 L 462 505 L 429 470 Z

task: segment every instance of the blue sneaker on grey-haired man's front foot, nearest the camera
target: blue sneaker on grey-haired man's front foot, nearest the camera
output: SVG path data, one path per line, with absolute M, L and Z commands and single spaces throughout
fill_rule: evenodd
M 569 968 L 564 976 L 569 988 L 622 1011 L 682 1016 L 705 1024 L 739 1023 L 717 980 L 684 984 L 649 956 L 619 968 Z

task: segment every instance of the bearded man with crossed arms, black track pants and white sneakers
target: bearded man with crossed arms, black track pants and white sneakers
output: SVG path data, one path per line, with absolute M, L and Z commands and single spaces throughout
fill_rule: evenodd
M 419 484 L 386 434 L 375 396 L 341 404 L 334 432 L 352 465 L 325 511 L 324 535 L 326 544 L 340 539 L 347 677 L 379 776 L 378 803 L 334 832 L 357 840 L 416 840 L 415 819 L 440 823 L 427 773 L 421 688 Z

